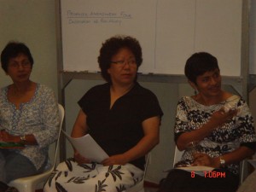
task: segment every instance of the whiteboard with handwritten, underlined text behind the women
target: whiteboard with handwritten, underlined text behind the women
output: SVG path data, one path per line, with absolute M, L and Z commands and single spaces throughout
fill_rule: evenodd
M 183 74 L 195 52 L 241 75 L 241 0 L 60 0 L 63 70 L 97 72 L 99 49 L 114 35 L 143 48 L 140 73 Z

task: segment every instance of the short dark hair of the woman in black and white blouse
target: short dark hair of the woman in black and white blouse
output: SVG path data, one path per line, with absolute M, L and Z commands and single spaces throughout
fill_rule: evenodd
M 218 68 L 218 60 L 207 52 L 198 52 L 189 57 L 185 65 L 185 75 L 189 81 L 196 84 L 196 78 L 203 73 Z

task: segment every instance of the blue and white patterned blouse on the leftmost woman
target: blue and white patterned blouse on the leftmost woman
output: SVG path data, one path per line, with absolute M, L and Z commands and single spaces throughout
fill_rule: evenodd
M 0 129 L 16 136 L 34 135 L 38 145 L 15 150 L 39 169 L 48 158 L 49 144 L 58 137 L 59 113 L 54 92 L 43 84 L 37 84 L 31 101 L 20 104 L 17 109 L 7 98 L 8 89 L 7 86 L 0 90 Z

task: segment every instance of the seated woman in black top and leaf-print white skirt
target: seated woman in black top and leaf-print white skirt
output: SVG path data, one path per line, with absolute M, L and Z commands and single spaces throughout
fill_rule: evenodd
M 137 39 L 116 36 L 102 44 L 98 56 L 106 84 L 79 100 L 72 137 L 89 133 L 109 158 L 96 163 L 74 150 L 61 163 L 44 191 L 119 192 L 143 179 L 145 155 L 159 143 L 162 111 L 154 94 L 137 83 L 142 64 Z

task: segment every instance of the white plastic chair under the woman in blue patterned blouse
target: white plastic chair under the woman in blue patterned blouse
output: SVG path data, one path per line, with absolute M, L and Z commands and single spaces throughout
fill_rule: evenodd
M 60 135 L 61 135 L 61 126 L 62 126 L 62 122 L 63 122 L 64 115 L 65 115 L 64 108 L 61 106 L 61 104 L 58 104 L 58 105 L 59 105 L 59 115 L 60 115 L 60 130 L 59 130 L 58 139 L 55 142 L 54 163 L 50 167 L 50 169 L 48 169 L 47 171 L 45 171 L 41 174 L 30 176 L 30 177 L 17 178 L 17 179 L 15 179 L 15 180 L 13 180 L 9 183 L 9 186 L 15 187 L 20 192 L 35 192 L 35 190 L 37 189 L 38 184 L 45 183 L 47 181 L 47 179 L 49 178 L 51 172 L 53 172 L 54 169 L 55 169 L 55 164 L 56 164 L 57 154 L 58 154 L 58 148 L 59 148 L 59 140 L 60 140 Z

